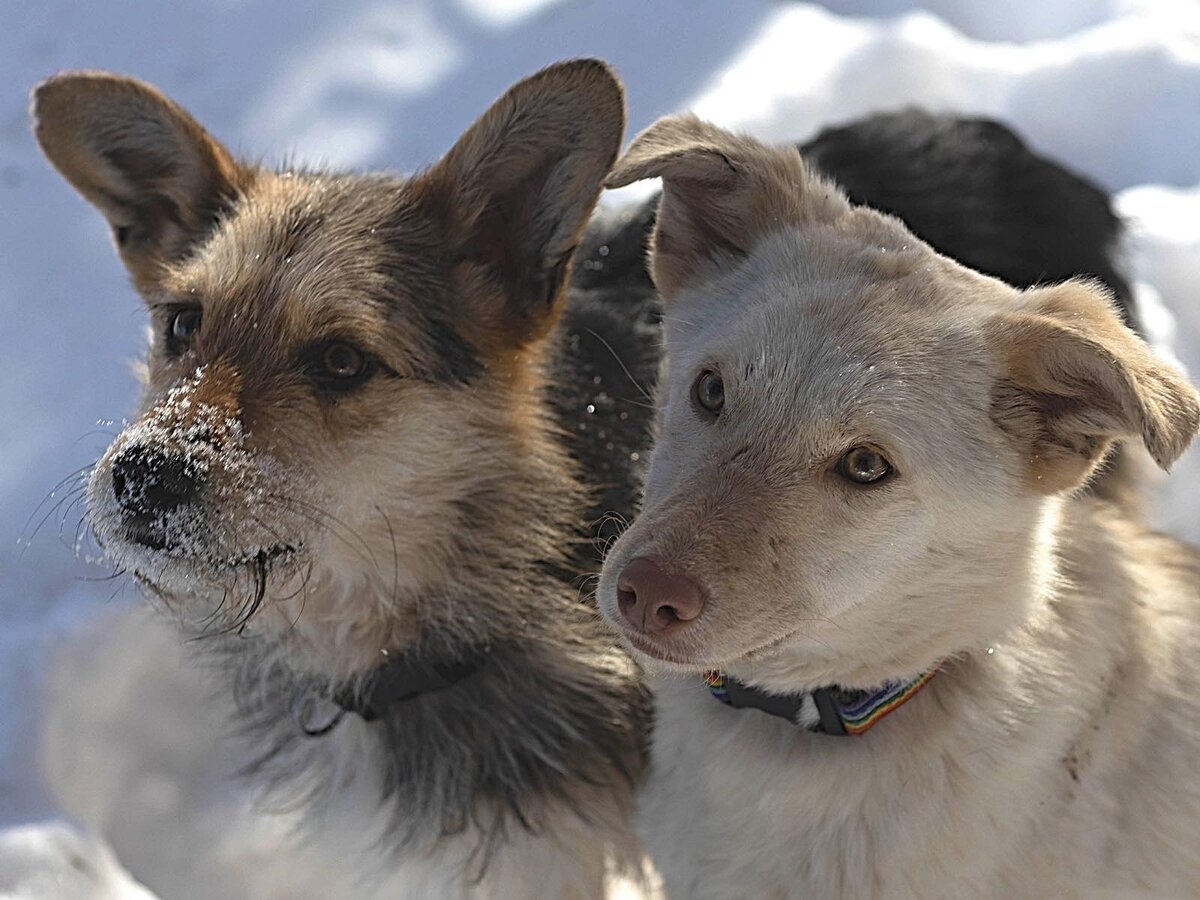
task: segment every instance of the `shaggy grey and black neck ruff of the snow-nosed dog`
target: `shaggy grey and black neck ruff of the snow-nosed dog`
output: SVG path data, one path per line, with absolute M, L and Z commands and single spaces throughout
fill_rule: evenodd
M 298 678 L 265 642 L 228 638 L 245 731 L 263 748 L 257 770 L 319 805 L 337 805 L 353 773 L 356 796 L 367 785 L 382 804 L 392 846 L 463 828 L 497 840 L 508 827 L 545 824 L 556 805 L 595 815 L 583 787 L 611 796 L 617 816 L 641 773 L 648 700 L 590 611 L 562 605 L 554 616 L 553 632 L 493 642 L 478 671 L 395 697 L 371 721 L 338 710 L 328 682 Z

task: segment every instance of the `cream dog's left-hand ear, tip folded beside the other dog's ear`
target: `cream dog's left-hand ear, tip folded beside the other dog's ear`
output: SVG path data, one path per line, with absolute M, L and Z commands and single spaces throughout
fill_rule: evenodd
M 650 270 L 666 300 L 713 264 L 749 253 L 764 234 L 848 209 L 794 148 L 770 148 L 695 115 L 660 119 L 638 134 L 607 186 L 646 178 L 662 179 Z

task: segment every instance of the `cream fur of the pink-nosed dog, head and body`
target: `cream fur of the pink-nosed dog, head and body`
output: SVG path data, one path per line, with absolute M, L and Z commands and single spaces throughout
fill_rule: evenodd
M 668 119 L 611 184 L 649 176 L 659 437 L 598 596 L 655 672 L 641 826 L 671 896 L 1195 895 L 1200 554 L 1080 491 L 1114 442 L 1169 466 L 1195 390 L 1093 282 L 979 275 L 794 151 Z M 890 472 L 851 479 L 856 449 Z M 637 558 L 674 580 L 650 618 Z M 698 678 L 934 666 L 858 738 Z

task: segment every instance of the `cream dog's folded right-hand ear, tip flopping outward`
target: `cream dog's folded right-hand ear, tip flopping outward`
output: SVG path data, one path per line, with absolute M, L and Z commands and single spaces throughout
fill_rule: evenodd
M 1200 427 L 1200 395 L 1126 328 L 1100 288 L 1025 293 L 1026 311 L 988 324 L 1004 374 L 992 414 L 1027 443 L 1037 487 L 1076 487 L 1112 440 L 1141 440 L 1166 469 Z

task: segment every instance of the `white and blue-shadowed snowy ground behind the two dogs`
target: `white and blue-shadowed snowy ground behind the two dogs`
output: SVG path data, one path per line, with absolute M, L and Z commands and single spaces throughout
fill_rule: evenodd
M 248 155 L 401 170 L 583 54 L 624 76 L 632 130 L 689 107 L 779 139 L 908 103 L 996 115 L 1117 194 L 1142 295 L 1200 372 L 1195 0 L 10 0 L 0 19 L 0 828 L 70 818 L 120 859 L 62 828 L 0 832 L 0 898 L 137 896 L 79 887 L 120 865 L 170 898 L 332 896 L 340 877 L 245 812 L 169 632 L 88 581 L 104 572 L 73 559 L 61 490 L 38 511 L 130 410 L 144 324 L 100 216 L 29 136 L 25 92 L 50 72 L 149 79 Z M 1165 487 L 1160 521 L 1200 540 L 1200 454 Z

